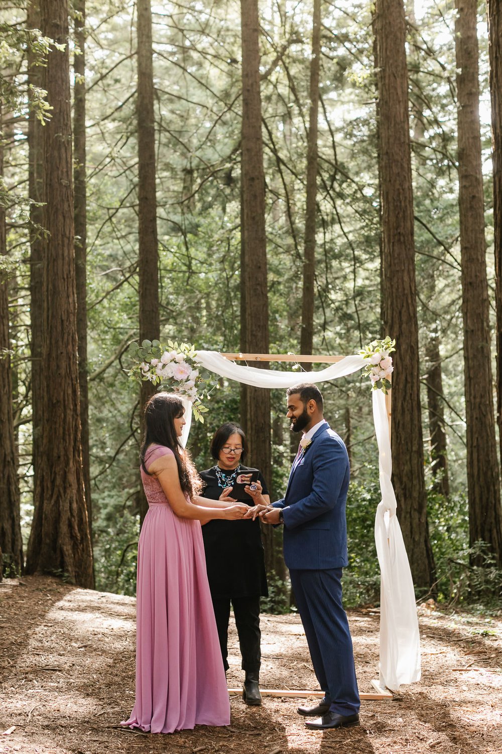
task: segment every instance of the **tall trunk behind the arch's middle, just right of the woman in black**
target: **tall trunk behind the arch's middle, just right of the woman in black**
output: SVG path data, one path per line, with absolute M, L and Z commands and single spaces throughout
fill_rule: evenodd
M 257 0 L 241 0 L 241 24 L 241 351 L 266 354 L 269 351 L 269 306 Z M 262 471 L 270 483 L 268 390 L 242 385 L 241 421 L 248 437 L 251 463 Z M 265 531 L 263 537 L 266 566 L 274 570 L 273 532 Z

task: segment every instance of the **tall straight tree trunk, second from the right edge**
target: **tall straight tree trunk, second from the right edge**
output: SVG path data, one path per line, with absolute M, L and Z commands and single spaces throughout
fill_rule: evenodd
M 489 544 L 502 567 L 502 509 L 492 397 L 486 276 L 476 0 L 455 0 L 458 206 L 464 320 L 464 385 L 470 544 Z M 476 562 L 482 563 L 477 556 Z

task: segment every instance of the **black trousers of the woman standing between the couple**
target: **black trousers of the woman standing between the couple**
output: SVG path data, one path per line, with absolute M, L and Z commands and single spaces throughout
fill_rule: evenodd
M 236 618 L 239 646 L 242 654 L 242 670 L 247 673 L 260 670 L 260 597 L 213 597 L 214 618 L 220 639 L 221 657 L 225 670 L 228 670 L 228 623 L 230 601 Z

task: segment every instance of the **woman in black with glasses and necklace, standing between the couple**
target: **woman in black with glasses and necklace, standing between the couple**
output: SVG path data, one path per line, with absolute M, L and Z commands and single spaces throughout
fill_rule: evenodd
M 202 495 L 211 500 L 231 499 L 230 492 L 237 477 L 249 470 L 243 464 L 248 455 L 248 443 L 242 428 L 230 421 L 222 425 L 211 440 L 211 455 L 216 464 L 200 472 L 205 484 Z M 261 472 L 258 481 L 263 497 L 269 501 Z M 251 498 L 242 502 L 253 505 Z M 258 706 L 261 704 L 260 596 L 268 596 L 260 522 L 258 519 L 209 521 L 202 526 L 202 537 L 224 667 L 228 670 L 231 602 L 245 671 L 242 698 L 246 704 Z

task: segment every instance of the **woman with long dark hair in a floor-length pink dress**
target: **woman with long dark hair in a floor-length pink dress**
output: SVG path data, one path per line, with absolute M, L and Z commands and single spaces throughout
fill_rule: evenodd
M 248 507 L 197 496 L 199 477 L 178 440 L 183 414 L 178 396 L 155 394 L 140 454 L 148 513 L 138 542 L 135 705 L 122 725 L 151 733 L 230 725 L 200 522 L 239 519 Z

